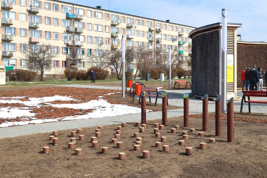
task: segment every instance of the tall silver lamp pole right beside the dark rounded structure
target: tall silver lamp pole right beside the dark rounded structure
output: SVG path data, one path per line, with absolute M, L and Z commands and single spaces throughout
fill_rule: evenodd
M 222 9 L 222 113 L 226 112 L 227 80 L 227 9 Z

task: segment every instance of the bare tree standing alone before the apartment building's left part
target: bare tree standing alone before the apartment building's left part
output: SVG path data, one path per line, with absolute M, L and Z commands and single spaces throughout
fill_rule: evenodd
M 41 45 L 27 44 L 27 50 L 21 51 L 23 59 L 27 60 L 27 68 L 40 72 L 40 81 L 44 79 L 44 71 L 51 70 L 51 63 L 58 54 L 54 53 L 54 48 L 49 42 L 42 42 Z

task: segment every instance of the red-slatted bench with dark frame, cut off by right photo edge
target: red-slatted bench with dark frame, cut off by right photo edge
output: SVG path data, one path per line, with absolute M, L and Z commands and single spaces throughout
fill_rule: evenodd
M 246 97 L 248 97 L 248 100 L 246 100 Z M 243 97 L 241 100 L 241 108 L 240 108 L 241 114 L 242 114 L 242 110 L 243 110 L 243 102 L 249 103 L 249 113 L 250 113 L 250 103 L 267 104 L 267 101 L 254 101 L 254 100 L 250 100 L 250 97 L 267 97 L 267 91 L 244 91 Z

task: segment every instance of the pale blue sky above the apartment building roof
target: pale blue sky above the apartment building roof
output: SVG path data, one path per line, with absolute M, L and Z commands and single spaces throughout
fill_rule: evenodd
M 64 1 L 64 0 L 62 0 Z M 202 27 L 220 22 L 228 9 L 228 23 L 242 24 L 242 41 L 267 42 L 267 0 L 65 0 L 90 7 Z M 110 2 L 110 3 L 109 3 Z

